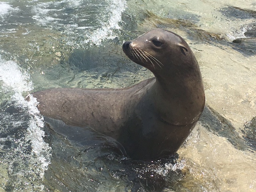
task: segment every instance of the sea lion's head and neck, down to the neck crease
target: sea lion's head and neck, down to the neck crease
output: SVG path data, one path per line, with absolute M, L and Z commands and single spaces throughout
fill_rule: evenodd
M 185 126 L 198 120 L 204 109 L 204 86 L 198 62 L 182 37 L 158 28 L 124 42 L 122 48 L 130 60 L 156 77 L 154 103 L 164 122 Z

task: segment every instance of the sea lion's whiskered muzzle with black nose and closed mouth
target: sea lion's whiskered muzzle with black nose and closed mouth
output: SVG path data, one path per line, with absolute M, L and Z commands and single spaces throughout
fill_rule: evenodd
M 153 67 L 154 70 L 156 70 L 156 66 L 162 67 L 164 66 L 158 59 L 156 59 L 154 56 L 149 54 L 148 52 L 138 49 L 135 46 L 132 45 L 132 41 L 126 41 L 123 44 L 123 51 L 132 60 L 133 62 L 136 62 L 137 64 L 140 64 L 145 67 Z

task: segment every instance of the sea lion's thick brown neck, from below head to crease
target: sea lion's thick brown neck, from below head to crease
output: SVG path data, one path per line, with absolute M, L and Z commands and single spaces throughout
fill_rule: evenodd
M 198 91 L 194 91 L 195 88 Z M 183 78 L 156 77 L 152 86 L 156 108 L 165 122 L 189 125 L 198 120 L 204 110 L 205 95 L 200 71 L 195 76 Z

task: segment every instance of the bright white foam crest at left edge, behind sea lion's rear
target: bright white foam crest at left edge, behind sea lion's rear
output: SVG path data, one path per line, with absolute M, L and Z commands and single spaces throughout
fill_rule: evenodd
M 50 163 L 50 147 L 42 138 L 44 136 L 44 131 L 42 130 L 44 122 L 36 108 L 36 98 L 30 96 L 30 101 L 26 101 L 22 95 L 24 92 L 29 92 L 33 89 L 29 75 L 25 70 L 22 70 L 16 62 L 6 61 L 0 57 L 0 82 L 3 90 L 6 92 L 14 92 L 12 95 L 13 103 L 28 110 L 27 112 L 30 116 L 30 120 L 27 123 L 28 132 L 25 136 L 25 140 L 18 142 L 21 144 L 26 142 L 31 143 L 34 155 L 31 154 L 28 161 L 32 165 L 36 162 L 38 166 L 35 168 L 35 173 L 42 179 L 44 171 L 47 170 L 48 164 Z M 19 124 L 20 122 L 16 122 L 16 124 L 17 123 Z

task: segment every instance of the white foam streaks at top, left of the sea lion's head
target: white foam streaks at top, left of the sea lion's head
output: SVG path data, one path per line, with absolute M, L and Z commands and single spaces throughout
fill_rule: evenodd
M 62 0 L 61 2 L 44 2 L 39 3 L 37 6 L 33 8 L 35 15 L 32 17 L 37 20 L 39 24 L 46 25 L 48 27 L 56 27 L 56 28 L 64 28 L 64 31 L 69 33 L 74 33 L 74 29 L 80 30 L 80 33 L 84 33 L 84 43 L 96 44 L 100 45 L 102 40 L 106 39 L 114 39 L 117 34 L 115 34 L 115 30 L 120 29 L 120 22 L 122 22 L 122 12 L 126 9 L 126 0 L 106 0 L 107 7 L 106 10 L 102 10 L 102 18 L 97 18 L 98 20 L 104 21 L 100 24 L 100 26 L 79 26 L 74 23 L 75 18 L 74 15 L 70 14 L 70 23 L 62 24 L 60 22 L 61 14 L 65 14 L 65 10 L 60 5 L 61 3 L 68 4 L 70 8 L 76 8 L 81 6 L 81 0 Z M 100 4 L 100 2 L 98 2 Z M 88 4 L 90 6 L 90 4 Z M 55 12 L 60 16 L 56 18 L 55 16 L 51 16 L 52 12 Z M 60 14 L 60 15 L 59 15 Z M 84 17 L 86 18 L 86 13 L 84 13 Z M 100 15 L 99 15 L 100 17 Z M 69 22 L 67 19 L 66 22 Z M 96 18 L 95 18 L 96 19 Z M 54 24 L 54 25 L 53 25 Z M 92 31 L 94 28 L 94 31 Z M 71 42 L 72 44 L 72 42 Z

